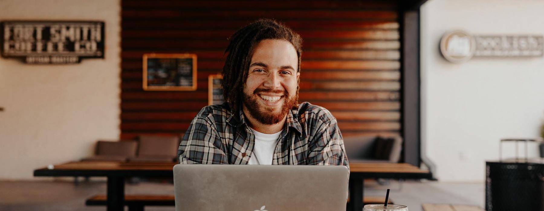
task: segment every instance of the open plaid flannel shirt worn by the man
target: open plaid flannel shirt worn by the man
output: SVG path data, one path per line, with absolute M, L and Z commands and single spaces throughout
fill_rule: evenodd
M 210 105 L 193 119 L 181 140 L 182 164 L 248 164 L 255 135 L 243 111 L 227 103 Z M 301 103 L 290 110 L 273 155 L 273 165 L 345 165 L 349 168 L 336 118 L 323 107 Z

